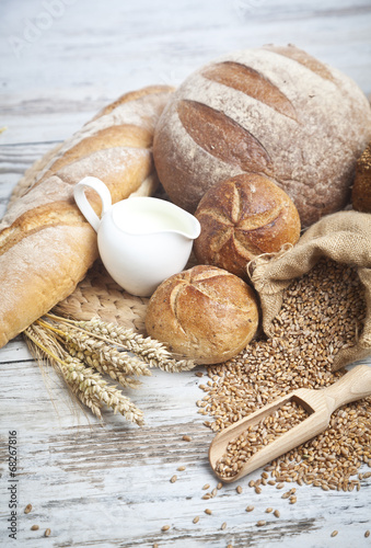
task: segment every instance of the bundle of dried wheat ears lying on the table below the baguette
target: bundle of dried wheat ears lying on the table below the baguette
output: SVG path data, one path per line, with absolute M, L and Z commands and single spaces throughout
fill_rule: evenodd
M 189 359 L 175 359 L 154 339 L 100 319 L 76 321 L 47 313 L 30 326 L 24 335 L 37 362 L 46 359 L 78 400 L 100 419 L 105 404 L 128 421 L 143 424 L 141 410 L 102 375 L 123 387 L 138 388 L 137 377 L 151 375 L 150 367 L 174 373 L 196 365 Z

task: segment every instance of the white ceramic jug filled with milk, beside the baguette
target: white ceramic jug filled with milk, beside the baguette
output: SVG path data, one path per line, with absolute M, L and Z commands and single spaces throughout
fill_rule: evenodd
M 85 189 L 97 192 L 102 216 L 97 217 Z M 196 217 L 171 202 L 129 197 L 112 204 L 107 186 L 86 176 L 74 186 L 81 213 L 97 232 L 101 259 L 111 276 L 131 295 L 150 296 L 165 278 L 186 265 L 193 240 L 200 233 Z

